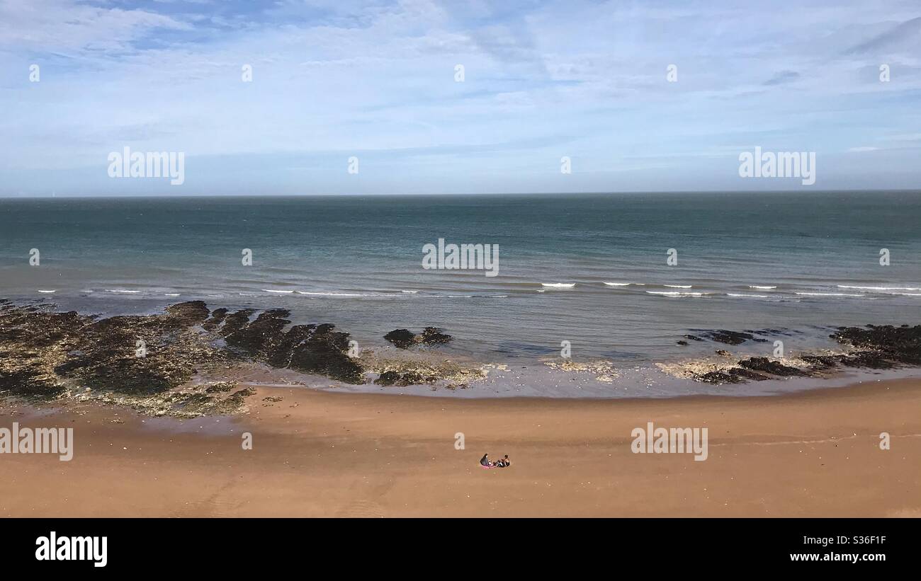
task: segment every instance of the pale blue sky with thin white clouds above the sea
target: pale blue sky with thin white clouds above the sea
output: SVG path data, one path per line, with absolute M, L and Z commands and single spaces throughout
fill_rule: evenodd
M 5 197 L 921 188 L 919 104 L 917 0 L 0 0 Z

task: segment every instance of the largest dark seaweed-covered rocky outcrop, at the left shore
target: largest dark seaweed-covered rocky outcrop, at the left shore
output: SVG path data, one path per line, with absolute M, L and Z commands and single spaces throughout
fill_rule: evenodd
M 364 382 L 361 366 L 345 353 L 347 333 L 329 324 L 294 325 L 285 331 L 287 311 L 273 309 L 251 320 L 254 313 L 210 312 L 204 302 L 192 301 L 170 305 L 161 314 L 100 319 L 55 313 L 47 305 L 5 304 L 0 309 L 0 393 L 47 399 L 68 389 L 88 389 L 152 396 L 186 384 L 199 370 L 240 360 Z M 232 407 L 236 402 L 231 400 L 244 395 L 221 401 Z M 180 399 L 196 403 L 189 393 Z

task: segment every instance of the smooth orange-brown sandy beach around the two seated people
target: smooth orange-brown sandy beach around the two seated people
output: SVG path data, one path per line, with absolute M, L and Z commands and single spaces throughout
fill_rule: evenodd
M 74 427 L 75 452 L 0 454 L 0 516 L 921 517 L 919 380 L 607 401 L 260 387 L 247 403 L 191 420 L 3 404 L 0 427 Z M 647 422 L 707 427 L 708 458 L 633 453 Z M 512 466 L 481 468 L 487 451 Z

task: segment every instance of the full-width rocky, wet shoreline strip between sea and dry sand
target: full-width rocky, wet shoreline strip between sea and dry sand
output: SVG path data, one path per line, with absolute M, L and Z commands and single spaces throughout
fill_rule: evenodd
M 53 304 L 0 305 L 0 347 L 10 356 L 0 360 L 0 393 L 129 404 L 151 416 L 242 411 L 252 389 L 240 389 L 246 383 L 462 399 L 744 397 L 913 377 L 921 369 L 921 325 L 836 327 L 829 337 L 837 348 L 785 357 L 775 341 L 774 358 L 746 351 L 767 344 L 757 331 L 699 330 L 684 337 L 710 354 L 624 365 L 538 354 L 458 357 L 445 348 L 455 338 L 434 326 L 395 329 L 383 336 L 384 347 L 361 347 L 336 325 L 292 324 L 286 309 L 232 311 L 192 301 L 157 314 L 99 317 Z

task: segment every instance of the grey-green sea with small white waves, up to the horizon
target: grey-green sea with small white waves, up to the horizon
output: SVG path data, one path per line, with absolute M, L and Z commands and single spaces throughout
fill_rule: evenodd
M 285 307 L 372 345 L 435 325 L 449 353 L 527 358 L 567 340 L 577 359 L 642 363 L 712 353 L 676 346 L 696 329 L 771 329 L 795 350 L 828 326 L 917 324 L 919 224 L 919 192 L 2 199 L 0 297 Z M 498 275 L 424 269 L 438 238 L 498 245 Z

